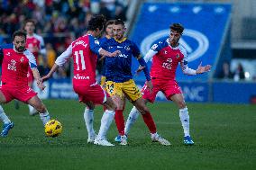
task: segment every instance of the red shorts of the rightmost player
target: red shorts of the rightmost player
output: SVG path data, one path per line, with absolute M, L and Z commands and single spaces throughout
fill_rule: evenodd
M 178 86 L 175 80 L 157 80 L 152 79 L 153 90 L 150 92 L 149 88 L 145 84 L 142 87 L 142 97 L 143 99 L 149 100 L 151 103 L 154 103 L 156 95 L 158 92 L 165 94 L 165 97 L 170 100 L 170 97 L 173 94 L 182 94 L 181 88 Z

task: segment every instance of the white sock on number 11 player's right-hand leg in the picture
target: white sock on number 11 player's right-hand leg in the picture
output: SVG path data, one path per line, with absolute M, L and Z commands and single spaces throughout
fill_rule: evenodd
M 97 139 L 105 139 L 106 131 L 109 129 L 113 120 L 114 111 L 105 110 L 101 118 L 101 124 L 98 131 Z

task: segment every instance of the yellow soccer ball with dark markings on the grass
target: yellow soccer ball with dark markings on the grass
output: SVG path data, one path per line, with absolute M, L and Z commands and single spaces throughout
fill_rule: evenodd
M 58 137 L 62 131 L 62 125 L 57 120 L 50 120 L 45 124 L 44 131 L 48 137 Z

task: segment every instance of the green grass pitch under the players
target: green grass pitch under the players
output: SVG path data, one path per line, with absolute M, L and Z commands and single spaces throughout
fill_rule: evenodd
M 158 132 L 170 147 L 152 143 L 142 117 L 128 137 L 129 146 L 105 148 L 87 144 L 84 105 L 72 100 L 46 100 L 51 118 L 63 131 L 46 138 L 39 116 L 29 116 L 22 104 L 4 105 L 14 121 L 7 138 L 0 138 L 0 169 L 255 169 L 256 105 L 187 103 L 190 133 L 196 145 L 184 146 L 178 108 L 173 103 L 150 104 Z M 127 117 L 132 105 L 127 104 Z M 102 107 L 96 107 L 95 129 L 99 129 Z M 115 124 L 107 133 L 114 143 Z

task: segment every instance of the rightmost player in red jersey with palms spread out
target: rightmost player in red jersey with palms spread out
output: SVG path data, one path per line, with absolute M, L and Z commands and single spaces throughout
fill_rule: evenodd
M 198 75 L 210 71 L 211 66 L 206 65 L 202 67 L 201 64 L 197 70 L 187 67 L 187 51 L 179 43 L 178 40 L 182 36 L 184 27 L 179 23 L 170 25 L 169 38 L 160 40 L 159 43 L 154 44 L 144 57 L 148 62 L 152 58 L 151 79 L 153 90 L 149 91 L 147 84 L 142 88 L 143 103 L 154 103 L 156 94 L 161 91 L 166 98 L 177 104 L 179 109 L 179 118 L 184 130 L 184 144 L 193 145 L 194 141 L 189 134 L 189 115 L 187 105 L 180 87 L 175 80 L 175 73 L 180 63 L 182 71 L 186 75 Z M 142 67 L 138 71 L 142 71 Z M 128 134 L 133 123 L 137 120 L 139 115 L 138 109 L 133 107 L 125 124 L 125 134 Z

